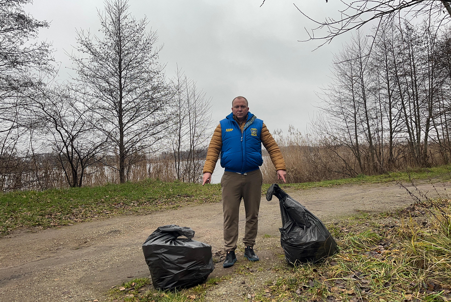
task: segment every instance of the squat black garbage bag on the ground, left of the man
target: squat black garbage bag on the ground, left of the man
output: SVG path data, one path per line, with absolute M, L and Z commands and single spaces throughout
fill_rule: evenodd
M 193 237 L 191 228 L 169 224 L 160 226 L 144 242 L 142 251 L 155 288 L 194 286 L 213 271 L 211 246 Z

